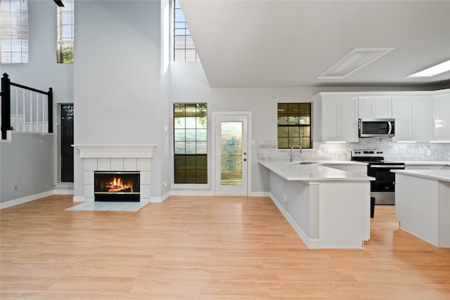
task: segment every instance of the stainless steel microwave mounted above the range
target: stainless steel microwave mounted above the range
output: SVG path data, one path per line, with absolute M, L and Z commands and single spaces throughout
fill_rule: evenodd
M 359 119 L 360 138 L 392 138 L 395 119 Z

